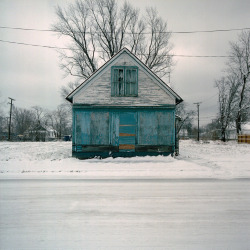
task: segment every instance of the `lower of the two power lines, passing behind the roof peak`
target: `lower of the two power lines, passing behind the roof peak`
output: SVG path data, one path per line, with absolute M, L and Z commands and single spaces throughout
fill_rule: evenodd
M 31 44 L 31 43 L 21 43 L 21 42 L 13 42 L 13 41 L 7 41 L 7 40 L 1 40 L 0 42 L 3 43 L 11 43 L 11 44 L 19 44 L 19 45 L 25 45 L 25 46 L 32 46 L 32 47 L 41 47 L 41 48 L 48 48 L 48 49 L 63 49 L 63 50 L 71 50 L 69 48 L 63 48 L 63 47 L 57 47 L 57 46 L 49 46 L 49 45 L 39 45 L 39 44 Z M 89 50 L 89 52 L 93 52 L 92 50 Z M 96 52 L 102 52 L 102 51 L 96 51 Z M 189 58 L 229 58 L 230 56 L 215 56 L 215 55 L 167 55 L 168 57 L 189 57 Z

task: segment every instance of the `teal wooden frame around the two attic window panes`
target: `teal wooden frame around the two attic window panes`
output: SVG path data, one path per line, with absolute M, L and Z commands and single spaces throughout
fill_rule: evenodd
M 122 69 L 123 70 L 123 86 L 122 86 L 122 94 L 118 95 L 115 93 L 115 83 L 114 83 L 114 72 L 115 69 Z M 135 74 L 135 94 L 126 94 L 127 88 L 127 70 L 136 70 Z M 112 66 L 111 67 L 111 96 L 114 97 L 137 97 L 138 96 L 138 67 L 137 66 Z

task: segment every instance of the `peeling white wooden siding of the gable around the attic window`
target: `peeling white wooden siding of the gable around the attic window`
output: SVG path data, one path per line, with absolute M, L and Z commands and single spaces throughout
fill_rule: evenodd
M 112 97 L 111 96 L 111 66 L 137 66 L 138 67 L 138 97 Z M 131 106 L 157 106 L 162 104 L 175 104 L 175 99 L 166 93 L 127 53 L 123 53 L 107 68 L 94 78 L 94 81 L 83 87 L 73 97 L 74 104 L 96 105 L 131 105 Z

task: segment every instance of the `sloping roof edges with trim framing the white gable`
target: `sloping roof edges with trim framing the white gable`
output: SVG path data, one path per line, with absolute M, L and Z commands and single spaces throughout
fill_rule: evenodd
M 165 90 L 168 94 L 172 95 L 176 104 L 183 101 L 183 99 L 173 90 L 171 89 L 164 81 L 162 81 L 152 70 L 150 70 L 140 59 L 138 59 L 133 53 L 131 53 L 127 48 L 121 49 L 117 54 L 115 54 L 109 61 L 103 64 L 97 71 L 95 71 L 88 79 L 86 79 L 82 84 L 80 84 L 75 90 L 73 90 L 66 99 L 69 102 L 72 102 L 74 95 L 76 95 L 82 88 L 91 83 L 91 81 L 99 75 L 99 73 L 106 67 L 108 67 L 114 60 L 116 60 L 122 53 L 127 53 L 131 56 L 144 70 L 151 75 L 154 79 L 157 80 L 158 84 L 161 86 L 163 90 Z

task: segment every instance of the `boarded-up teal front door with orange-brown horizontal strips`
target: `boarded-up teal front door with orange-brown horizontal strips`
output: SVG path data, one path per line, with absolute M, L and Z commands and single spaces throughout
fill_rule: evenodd
M 135 152 L 136 113 L 120 113 L 119 152 Z

